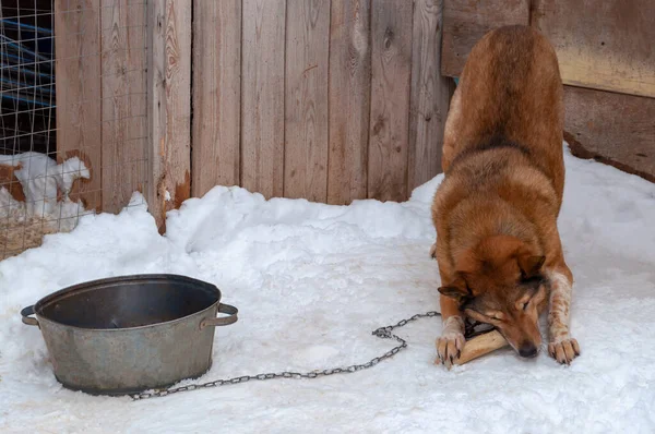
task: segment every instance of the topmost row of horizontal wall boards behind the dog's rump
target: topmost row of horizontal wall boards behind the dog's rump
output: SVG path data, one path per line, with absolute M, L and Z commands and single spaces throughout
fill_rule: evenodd
M 564 84 L 655 97 L 652 0 L 445 0 L 441 72 L 458 76 L 492 28 L 531 25 L 557 52 Z

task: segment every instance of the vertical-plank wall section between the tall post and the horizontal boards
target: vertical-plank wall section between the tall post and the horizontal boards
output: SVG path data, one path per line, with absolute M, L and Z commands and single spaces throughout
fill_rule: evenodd
M 193 196 L 402 201 L 439 172 L 441 0 L 193 7 Z

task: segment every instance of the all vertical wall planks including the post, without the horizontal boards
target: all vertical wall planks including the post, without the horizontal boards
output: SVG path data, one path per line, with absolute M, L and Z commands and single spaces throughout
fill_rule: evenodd
M 442 0 L 55 0 L 58 155 L 90 208 L 214 185 L 347 204 L 440 170 Z

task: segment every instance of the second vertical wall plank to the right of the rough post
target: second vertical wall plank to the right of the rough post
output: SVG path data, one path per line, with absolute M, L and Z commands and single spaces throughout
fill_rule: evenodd
M 241 185 L 284 193 L 285 0 L 243 0 Z

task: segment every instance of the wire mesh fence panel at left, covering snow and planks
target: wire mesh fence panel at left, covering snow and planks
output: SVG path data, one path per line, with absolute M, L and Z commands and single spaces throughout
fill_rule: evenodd
M 0 0 L 0 260 L 145 188 L 145 8 Z

